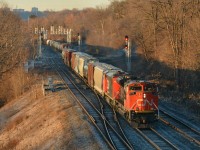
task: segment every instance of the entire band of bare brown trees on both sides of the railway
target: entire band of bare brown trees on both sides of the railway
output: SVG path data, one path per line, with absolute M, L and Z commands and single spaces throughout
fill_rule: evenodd
M 128 35 L 142 60 L 133 62 L 138 64 L 133 73 L 156 77 L 164 88 L 199 92 L 200 0 L 112 0 L 107 7 L 45 14 L 27 23 L 7 7 L 0 8 L 1 82 L 7 74 L 13 75 L 13 68 L 19 67 L 27 54 L 35 57 L 34 28 L 54 25 L 73 29 L 89 45 L 113 49 L 122 49 Z M 8 91 L 3 88 L 5 83 L 1 85 Z

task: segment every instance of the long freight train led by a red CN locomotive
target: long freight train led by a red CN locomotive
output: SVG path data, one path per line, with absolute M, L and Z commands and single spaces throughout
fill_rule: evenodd
M 158 88 L 155 83 L 138 80 L 120 68 L 63 46 L 66 44 L 51 40 L 47 43 L 62 51 L 64 63 L 132 126 L 146 128 L 158 120 Z

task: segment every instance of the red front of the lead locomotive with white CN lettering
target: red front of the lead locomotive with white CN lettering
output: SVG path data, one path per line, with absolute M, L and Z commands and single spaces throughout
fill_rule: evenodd
M 154 83 L 130 81 L 125 84 L 124 106 L 129 121 L 150 124 L 158 119 L 158 90 Z

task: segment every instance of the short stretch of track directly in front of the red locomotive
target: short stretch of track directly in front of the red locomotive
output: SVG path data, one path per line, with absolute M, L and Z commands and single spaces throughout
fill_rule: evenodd
M 153 147 L 155 147 L 158 150 L 170 150 L 170 149 L 177 149 L 178 148 L 173 145 L 170 141 L 168 141 L 166 138 L 164 138 L 161 134 L 159 134 L 156 130 L 153 128 L 148 129 L 138 129 L 136 128 L 136 131 L 142 135 Z

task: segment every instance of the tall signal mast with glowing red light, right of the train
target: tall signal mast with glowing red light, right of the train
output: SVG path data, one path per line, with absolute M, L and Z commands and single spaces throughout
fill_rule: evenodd
M 127 72 L 131 72 L 131 43 L 128 35 L 125 35 L 125 47 L 124 47 L 126 58 L 127 58 Z

